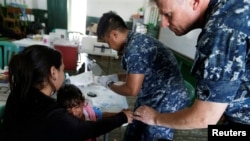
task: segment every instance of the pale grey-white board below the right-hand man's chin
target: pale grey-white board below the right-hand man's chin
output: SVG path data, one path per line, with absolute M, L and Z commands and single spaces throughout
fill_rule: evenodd
M 186 35 L 176 36 L 168 28 L 161 28 L 159 40 L 169 48 L 193 59 L 197 38 L 200 32 L 200 29 L 196 29 Z

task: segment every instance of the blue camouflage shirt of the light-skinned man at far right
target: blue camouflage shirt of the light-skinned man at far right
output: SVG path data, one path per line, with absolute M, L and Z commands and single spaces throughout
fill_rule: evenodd
M 200 100 L 228 103 L 226 117 L 250 125 L 250 0 L 210 0 L 192 72 Z

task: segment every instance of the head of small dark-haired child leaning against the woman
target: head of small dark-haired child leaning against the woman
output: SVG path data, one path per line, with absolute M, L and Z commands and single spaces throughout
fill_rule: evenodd
M 85 102 L 81 90 L 73 84 L 65 84 L 57 92 L 57 103 L 65 109 L 73 108 Z

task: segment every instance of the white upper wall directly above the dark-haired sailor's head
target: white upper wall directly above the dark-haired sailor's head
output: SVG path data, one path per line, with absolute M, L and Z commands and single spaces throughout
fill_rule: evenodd
M 145 0 L 87 0 L 87 16 L 101 17 L 110 10 L 115 11 L 125 21 L 144 6 Z

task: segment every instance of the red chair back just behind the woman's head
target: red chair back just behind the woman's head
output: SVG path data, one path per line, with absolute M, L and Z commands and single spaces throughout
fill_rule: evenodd
M 76 73 L 78 48 L 73 45 L 70 46 L 70 45 L 57 45 L 57 44 L 54 44 L 54 48 L 62 53 L 64 70 L 69 73 Z

